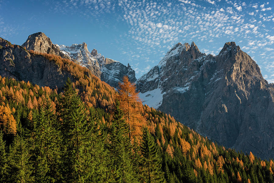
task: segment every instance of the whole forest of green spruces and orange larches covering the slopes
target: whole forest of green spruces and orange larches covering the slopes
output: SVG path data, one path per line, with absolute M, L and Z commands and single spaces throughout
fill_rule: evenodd
M 39 53 L 29 52 L 39 55 Z M 273 160 L 210 141 L 87 69 L 64 88 L 0 77 L 0 182 L 274 182 Z

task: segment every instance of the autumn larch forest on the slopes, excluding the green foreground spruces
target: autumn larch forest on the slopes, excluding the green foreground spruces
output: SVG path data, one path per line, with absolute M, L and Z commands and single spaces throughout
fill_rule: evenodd
M 124 77 L 116 92 L 88 69 L 70 60 L 34 51 L 29 53 L 41 55 L 56 63 L 63 71 L 71 73 L 72 85 L 78 89 L 77 94 L 81 100 L 87 108 L 93 107 L 99 114 L 95 120 L 103 129 L 100 135 L 109 131 L 112 119 L 109 111 L 114 107 L 116 99 L 120 101 L 123 118 L 130 130 L 130 139 L 139 137 L 142 127 L 148 125 L 152 140 L 160 152 L 167 182 L 273 182 L 273 160 L 261 160 L 251 152 L 240 153 L 219 146 L 169 114 L 143 106 L 134 83 L 130 83 L 127 77 Z M 4 135 L 19 137 L 23 134 L 22 129 L 31 129 L 33 124 L 30 121 L 37 118 L 37 111 L 46 104 L 47 97 L 55 114 L 61 92 L 57 88 L 0 77 L 0 128 Z M 9 145 L 16 147 L 16 140 L 15 145 L 6 142 L 4 150 Z

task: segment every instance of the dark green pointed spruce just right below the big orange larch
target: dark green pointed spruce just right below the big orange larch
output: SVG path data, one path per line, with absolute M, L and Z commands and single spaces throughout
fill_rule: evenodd
M 143 182 L 165 182 L 157 146 L 147 127 L 143 128 L 142 142 Z

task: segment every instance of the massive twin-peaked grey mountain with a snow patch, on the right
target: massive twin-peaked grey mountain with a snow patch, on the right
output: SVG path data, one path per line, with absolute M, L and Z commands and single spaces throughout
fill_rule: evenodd
M 210 139 L 274 157 L 274 88 L 234 42 L 215 57 L 176 44 L 136 85 L 144 103 Z

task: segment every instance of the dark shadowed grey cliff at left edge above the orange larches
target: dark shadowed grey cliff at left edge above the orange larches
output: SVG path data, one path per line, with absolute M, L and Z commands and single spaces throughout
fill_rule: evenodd
M 54 62 L 41 55 L 31 54 L 19 45 L 6 44 L 0 38 L 0 75 L 17 80 L 30 81 L 40 86 L 62 88 L 68 77 L 73 76 L 61 70 Z

